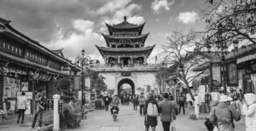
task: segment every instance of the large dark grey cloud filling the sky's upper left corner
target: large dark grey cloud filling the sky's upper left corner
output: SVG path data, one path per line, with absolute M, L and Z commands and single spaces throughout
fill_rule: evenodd
M 56 24 L 70 26 L 70 18 L 84 15 L 85 5 L 79 0 L 0 0 L 0 17 L 11 20 L 12 25 L 27 36 L 49 42 Z

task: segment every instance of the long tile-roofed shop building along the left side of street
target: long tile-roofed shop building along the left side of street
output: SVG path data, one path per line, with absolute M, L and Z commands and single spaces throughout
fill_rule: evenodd
M 15 30 L 10 26 L 9 20 L 1 18 L 0 67 L 1 108 L 7 109 L 10 113 L 15 112 L 16 97 L 21 91 L 26 92 L 28 105 L 32 107 L 34 94 L 38 89 L 42 89 L 46 99 L 51 100 L 58 79 L 68 77 L 74 83 L 74 77 L 81 70 L 64 58 L 62 49 L 45 48 Z M 32 109 L 29 108 L 26 113 L 30 114 Z

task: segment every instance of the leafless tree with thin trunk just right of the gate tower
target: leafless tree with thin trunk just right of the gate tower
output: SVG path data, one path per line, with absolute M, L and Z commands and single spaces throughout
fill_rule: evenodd
M 191 48 L 195 47 L 196 37 L 195 33 L 189 32 L 188 34 L 183 34 L 181 31 L 172 31 L 172 34 L 166 37 L 168 42 L 164 45 L 166 62 L 174 68 L 172 75 L 180 79 L 186 85 L 186 88 L 189 88 L 189 83 L 192 83 L 204 73 L 204 71 L 196 74 L 191 73 L 193 67 L 202 62 L 197 52 L 188 53 L 186 50 L 191 50 Z M 195 100 L 190 89 L 188 90 L 191 98 Z

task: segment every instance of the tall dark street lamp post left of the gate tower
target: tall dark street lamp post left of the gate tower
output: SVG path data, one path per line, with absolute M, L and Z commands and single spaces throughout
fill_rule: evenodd
M 82 73 L 81 73 L 81 79 L 82 79 L 82 86 L 81 86 L 81 92 L 82 92 L 82 101 L 81 101 L 81 111 L 82 111 L 82 117 L 84 117 L 84 88 L 85 88 L 85 77 L 84 77 L 84 65 L 88 64 L 88 61 L 90 60 L 90 57 L 84 57 L 84 48 L 82 49 L 82 55 L 79 55 L 79 57 L 76 58 L 77 64 L 79 64 L 82 67 Z

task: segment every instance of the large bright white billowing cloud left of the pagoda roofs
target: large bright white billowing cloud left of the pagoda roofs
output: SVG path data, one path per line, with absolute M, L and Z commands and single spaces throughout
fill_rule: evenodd
M 95 45 L 104 42 L 102 36 L 93 31 L 94 26 L 95 23 L 90 20 L 73 20 L 73 26 L 67 31 L 63 31 L 62 27 L 58 26 L 55 30 L 55 38 L 47 44 L 47 47 L 64 48 L 64 53 L 70 60 L 79 56 L 82 48 L 86 55 L 101 59 L 101 54 L 98 53 Z

